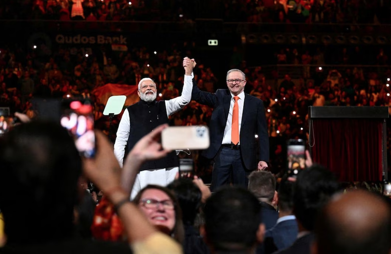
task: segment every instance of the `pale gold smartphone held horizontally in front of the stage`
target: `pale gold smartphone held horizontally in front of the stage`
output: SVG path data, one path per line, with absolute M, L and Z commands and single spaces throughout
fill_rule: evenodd
M 167 127 L 162 131 L 162 147 L 167 150 L 198 150 L 209 148 L 206 126 Z

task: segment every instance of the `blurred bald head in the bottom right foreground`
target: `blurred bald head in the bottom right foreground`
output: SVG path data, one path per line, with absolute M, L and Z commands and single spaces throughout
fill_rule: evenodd
M 388 254 L 390 205 L 368 191 L 352 191 L 330 201 L 315 227 L 316 254 Z

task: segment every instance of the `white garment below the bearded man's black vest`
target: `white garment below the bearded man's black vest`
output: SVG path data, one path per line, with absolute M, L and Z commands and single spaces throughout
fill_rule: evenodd
M 178 167 L 166 169 L 149 169 L 142 170 L 137 174 L 134 181 L 133 189 L 131 190 L 130 199 L 133 200 L 137 193 L 149 184 L 167 186 L 175 179 L 178 172 Z

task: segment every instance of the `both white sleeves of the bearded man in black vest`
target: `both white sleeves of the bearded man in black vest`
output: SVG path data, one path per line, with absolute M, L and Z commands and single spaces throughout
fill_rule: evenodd
M 193 73 L 192 76 L 185 75 L 182 94 L 174 99 L 164 101 L 166 104 L 167 116 L 174 114 L 176 111 L 188 105 L 191 101 L 193 90 L 193 77 Z M 121 121 L 119 122 L 117 137 L 114 143 L 114 154 L 121 167 L 125 156 L 125 147 L 128 143 L 129 133 L 130 118 L 128 109 L 126 108 L 122 115 Z

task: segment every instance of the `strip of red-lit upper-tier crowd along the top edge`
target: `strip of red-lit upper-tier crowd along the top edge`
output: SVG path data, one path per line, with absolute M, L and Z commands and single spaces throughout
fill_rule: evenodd
M 15 0 L 1 19 L 390 23 L 384 0 Z

